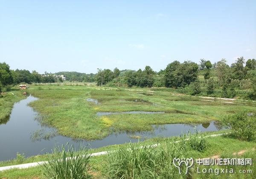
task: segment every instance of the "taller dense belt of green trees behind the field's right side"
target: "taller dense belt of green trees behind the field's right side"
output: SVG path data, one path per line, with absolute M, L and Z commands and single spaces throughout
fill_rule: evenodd
M 212 64 L 209 60 L 173 61 L 165 69 L 155 72 L 145 69 L 122 70 L 98 69 L 97 85 L 117 87 L 166 87 L 178 89 L 190 95 L 256 99 L 256 60 L 240 57 L 230 66 L 225 59 Z M 120 75 L 119 75 L 120 74 Z M 239 92 L 239 93 L 238 93 Z M 240 94 L 241 93 L 241 94 Z

